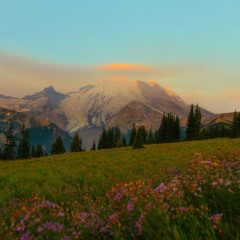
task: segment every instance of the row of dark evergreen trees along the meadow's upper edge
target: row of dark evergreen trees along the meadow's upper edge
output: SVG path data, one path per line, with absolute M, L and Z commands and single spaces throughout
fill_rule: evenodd
M 14 140 L 13 123 L 12 120 L 10 120 L 9 129 L 6 133 L 6 143 L 3 150 L 0 148 L 0 159 L 27 159 L 30 157 L 38 158 L 48 155 L 48 152 L 41 143 L 36 146 L 30 146 L 29 130 L 24 124 L 22 126 L 21 135 L 22 138 L 17 146 Z M 215 124 L 214 126 L 204 128 L 202 126 L 202 114 L 200 107 L 198 105 L 191 105 L 187 119 L 185 140 L 199 140 L 216 137 L 240 137 L 240 113 L 235 111 L 232 124 Z M 108 130 L 103 128 L 102 134 L 99 137 L 98 145 L 94 140 L 91 150 L 125 146 L 132 146 L 133 149 L 139 149 L 143 148 L 145 144 L 177 142 L 180 141 L 180 138 L 179 116 L 168 113 L 163 115 L 160 126 L 155 132 L 152 131 L 152 128 L 147 131 L 144 126 L 137 127 L 136 124 L 133 123 L 129 142 L 127 142 L 126 136 L 121 132 L 118 126 L 109 128 Z M 63 139 L 61 137 L 57 137 L 51 145 L 50 154 L 62 154 L 66 151 Z M 77 133 L 75 133 L 70 144 L 70 151 L 83 151 L 82 139 Z

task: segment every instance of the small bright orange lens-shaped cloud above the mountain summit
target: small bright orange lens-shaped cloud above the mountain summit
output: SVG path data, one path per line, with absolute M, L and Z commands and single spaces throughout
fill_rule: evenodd
M 139 64 L 131 64 L 131 63 L 113 63 L 113 64 L 105 64 L 99 67 L 101 70 L 107 71 L 150 71 L 152 70 L 151 67 L 146 65 L 139 65 Z

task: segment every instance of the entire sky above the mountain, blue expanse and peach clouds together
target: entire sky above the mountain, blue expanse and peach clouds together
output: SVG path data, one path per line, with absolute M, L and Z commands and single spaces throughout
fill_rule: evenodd
M 239 9 L 239 0 L 0 0 L 0 94 L 122 76 L 240 111 Z

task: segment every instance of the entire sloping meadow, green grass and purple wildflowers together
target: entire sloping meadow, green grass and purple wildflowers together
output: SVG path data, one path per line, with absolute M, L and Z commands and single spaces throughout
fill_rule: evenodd
M 0 162 L 0 234 L 239 239 L 239 147 L 213 139 Z

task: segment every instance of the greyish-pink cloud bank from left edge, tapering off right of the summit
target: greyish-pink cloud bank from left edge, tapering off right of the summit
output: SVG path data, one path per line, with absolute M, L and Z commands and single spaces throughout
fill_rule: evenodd
M 49 85 L 66 93 L 78 90 L 84 84 L 92 84 L 113 76 L 130 80 L 158 81 L 179 74 L 182 73 L 175 67 L 152 67 L 133 63 L 67 66 L 0 52 L 0 94 L 17 97 L 40 91 Z

